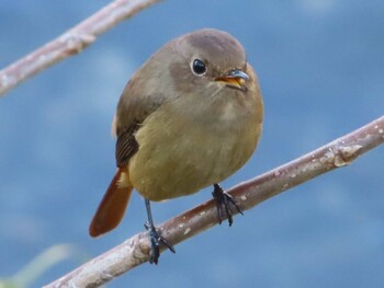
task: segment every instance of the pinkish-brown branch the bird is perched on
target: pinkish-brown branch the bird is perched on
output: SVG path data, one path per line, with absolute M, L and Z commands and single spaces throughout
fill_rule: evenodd
M 240 208 L 250 209 L 291 187 L 334 169 L 350 164 L 359 155 L 384 142 L 384 116 L 296 160 L 273 169 L 228 191 Z M 214 200 L 204 203 L 160 224 L 158 230 L 172 245 L 217 224 Z M 45 286 L 98 287 L 148 261 L 145 232 L 91 260 L 60 279 Z

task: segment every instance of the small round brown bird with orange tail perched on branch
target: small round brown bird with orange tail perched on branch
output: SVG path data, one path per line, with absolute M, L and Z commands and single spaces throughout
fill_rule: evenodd
M 237 39 L 206 28 L 169 42 L 122 93 L 113 124 L 117 172 L 89 233 L 114 229 L 134 188 L 146 203 L 150 263 L 158 262 L 160 243 L 174 250 L 157 232 L 149 201 L 214 185 L 219 221 L 225 211 L 231 224 L 229 205 L 239 208 L 218 183 L 251 157 L 262 118 L 257 76 Z

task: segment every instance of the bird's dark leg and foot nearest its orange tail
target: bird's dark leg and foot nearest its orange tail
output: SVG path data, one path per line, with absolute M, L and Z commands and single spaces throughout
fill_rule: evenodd
M 160 257 L 160 244 L 166 245 L 171 252 L 174 253 L 174 247 L 170 245 L 167 240 L 160 235 L 160 233 L 156 230 L 153 220 L 153 214 L 150 211 L 150 203 L 148 199 L 145 199 L 145 207 L 147 209 L 148 221 L 144 223 L 145 229 L 149 232 L 149 242 L 150 242 L 150 251 L 149 251 L 149 263 L 157 264 Z

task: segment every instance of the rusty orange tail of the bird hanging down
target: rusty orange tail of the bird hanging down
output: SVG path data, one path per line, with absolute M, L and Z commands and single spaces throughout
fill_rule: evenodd
M 89 227 L 89 234 L 98 237 L 114 229 L 122 220 L 133 186 L 126 169 L 120 168 L 114 175 Z

